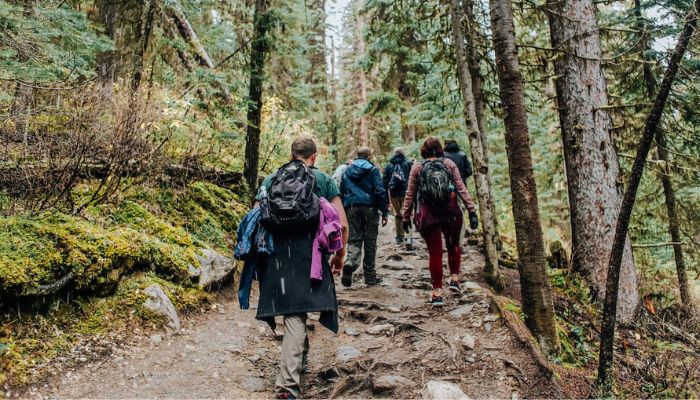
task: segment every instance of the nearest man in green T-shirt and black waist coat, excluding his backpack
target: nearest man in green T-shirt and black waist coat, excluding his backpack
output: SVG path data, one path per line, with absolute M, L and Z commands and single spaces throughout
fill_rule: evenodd
M 292 143 L 292 159 L 301 160 L 315 176 L 314 193 L 328 200 L 338 211 L 343 227 L 343 243 L 348 239 L 348 223 L 340 200 L 340 192 L 333 179 L 314 167 L 316 143 L 309 137 Z M 257 200 L 270 191 L 272 176 L 268 176 Z M 321 281 L 310 279 L 312 248 L 316 231 L 272 232 L 277 245 L 264 265 L 257 269 L 260 282 L 260 300 L 256 318 L 268 322 L 274 329 L 275 316 L 284 316 L 284 338 L 280 371 L 275 382 L 278 399 L 294 399 L 300 394 L 300 377 L 308 350 L 306 319 L 309 312 L 320 312 L 319 322 L 338 332 L 338 302 L 334 274 L 343 267 L 345 249 L 330 259 L 322 258 Z

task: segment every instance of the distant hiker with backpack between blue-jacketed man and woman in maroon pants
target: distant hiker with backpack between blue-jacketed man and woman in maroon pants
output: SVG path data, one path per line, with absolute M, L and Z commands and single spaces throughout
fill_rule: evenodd
M 403 220 L 401 219 L 401 206 L 408 188 L 408 175 L 411 173 L 413 162 L 406 158 L 402 148 L 394 150 L 394 156 L 384 167 L 384 189 L 389 194 L 391 207 L 394 209 L 394 223 L 396 229 L 396 244 L 404 242 Z

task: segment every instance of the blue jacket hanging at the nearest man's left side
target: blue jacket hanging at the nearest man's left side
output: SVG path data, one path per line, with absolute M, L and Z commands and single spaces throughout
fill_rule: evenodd
M 243 217 L 236 232 L 237 243 L 233 256 L 237 260 L 243 260 L 243 271 L 238 285 L 238 303 L 244 310 L 250 307 L 250 289 L 258 264 L 274 251 L 272 234 L 262 227 L 260 216 L 260 207 L 255 207 Z

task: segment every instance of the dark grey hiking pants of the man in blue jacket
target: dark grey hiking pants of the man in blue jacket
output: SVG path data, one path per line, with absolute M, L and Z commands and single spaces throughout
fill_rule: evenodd
M 377 278 L 375 260 L 377 257 L 377 236 L 379 236 L 379 214 L 372 207 L 348 207 L 347 216 L 350 225 L 350 238 L 348 239 L 348 257 L 344 269 L 350 273 L 355 272 L 362 261 L 365 283 L 374 283 Z M 363 248 L 365 250 L 364 259 L 362 259 Z

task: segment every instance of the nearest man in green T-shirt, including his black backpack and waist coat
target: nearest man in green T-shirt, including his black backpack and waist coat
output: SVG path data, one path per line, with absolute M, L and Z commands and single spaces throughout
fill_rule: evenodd
M 284 317 L 280 371 L 275 382 L 278 399 L 299 397 L 300 375 L 308 352 L 307 313 L 320 312 L 319 322 L 338 332 L 338 303 L 332 274 L 338 274 L 343 267 L 348 222 L 335 182 L 314 167 L 316 156 L 313 139 L 294 140 L 292 161 L 268 176 L 256 197 L 261 222 L 271 232 L 274 245 L 262 267 L 257 269 L 260 299 L 256 318 L 274 329 L 274 317 Z M 329 263 L 325 251 L 321 257 L 317 256 L 316 246 L 319 235 L 324 235 L 329 227 L 319 224 L 325 218 L 332 218 L 334 212 L 341 229 L 340 249 Z M 337 242 L 338 237 L 322 240 Z M 320 263 L 320 270 L 316 263 Z

